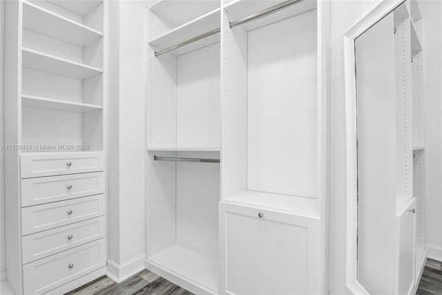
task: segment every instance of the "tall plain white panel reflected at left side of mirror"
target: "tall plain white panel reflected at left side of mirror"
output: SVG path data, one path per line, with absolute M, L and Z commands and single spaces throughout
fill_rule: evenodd
M 358 281 L 393 294 L 396 113 L 393 14 L 356 39 Z M 356 196 L 355 196 L 356 198 Z M 382 205 L 380 205 L 382 204 Z

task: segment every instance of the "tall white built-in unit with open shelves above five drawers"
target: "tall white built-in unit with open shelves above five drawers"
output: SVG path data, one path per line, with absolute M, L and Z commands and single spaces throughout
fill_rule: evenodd
M 106 272 L 106 1 L 7 1 L 6 267 L 16 294 Z

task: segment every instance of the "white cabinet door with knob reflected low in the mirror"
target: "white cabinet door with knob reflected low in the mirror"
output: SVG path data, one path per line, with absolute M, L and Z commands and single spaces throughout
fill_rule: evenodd
M 414 287 L 416 198 L 396 214 L 396 271 L 394 294 L 410 294 Z

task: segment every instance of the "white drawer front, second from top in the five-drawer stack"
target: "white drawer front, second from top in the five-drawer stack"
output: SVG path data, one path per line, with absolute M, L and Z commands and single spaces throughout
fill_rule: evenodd
M 104 172 L 21 180 L 21 207 L 104 193 Z

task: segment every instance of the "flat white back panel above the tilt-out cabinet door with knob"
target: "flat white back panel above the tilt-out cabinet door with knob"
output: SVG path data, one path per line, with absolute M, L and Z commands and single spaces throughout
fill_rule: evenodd
M 316 26 L 310 10 L 249 32 L 251 191 L 316 198 Z

